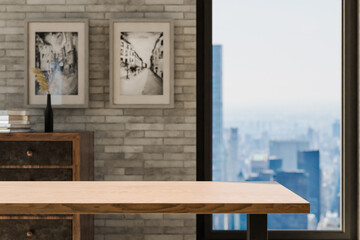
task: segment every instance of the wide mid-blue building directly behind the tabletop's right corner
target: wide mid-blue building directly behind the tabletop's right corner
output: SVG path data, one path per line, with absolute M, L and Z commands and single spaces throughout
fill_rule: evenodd
M 304 170 L 277 172 L 274 180 L 303 198 L 307 198 L 307 175 Z M 270 214 L 269 229 L 300 230 L 308 228 L 307 214 Z

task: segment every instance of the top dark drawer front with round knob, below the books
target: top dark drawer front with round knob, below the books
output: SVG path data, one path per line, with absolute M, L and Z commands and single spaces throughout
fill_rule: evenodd
M 0 142 L 0 165 L 71 165 L 72 142 Z

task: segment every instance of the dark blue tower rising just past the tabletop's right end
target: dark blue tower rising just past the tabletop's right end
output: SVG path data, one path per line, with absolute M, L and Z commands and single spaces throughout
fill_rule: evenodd
M 308 198 L 310 212 L 320 221 L 320 153 L 319 151 L 299 151 L 297 157 L 298 169 L 304 170 L 308 181 Z

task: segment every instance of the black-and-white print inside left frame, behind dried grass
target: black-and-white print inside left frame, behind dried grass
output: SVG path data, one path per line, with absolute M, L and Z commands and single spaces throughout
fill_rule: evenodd
M 78 95 L 78 44 L 78 32 L 35 33 L 35 68 L 45 74 L 52 95 Z M 45 94 L 35 85 L 35 95 Z

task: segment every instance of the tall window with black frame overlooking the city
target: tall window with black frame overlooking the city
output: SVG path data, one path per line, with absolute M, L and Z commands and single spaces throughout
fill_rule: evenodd
M 198 180 L 277 181 L 310 202 L 269 215 L 270 238 L 356 236 L 354 4 L 198 0 Z M 198 216 L 199 239 L 243 230 L 245 215 Z

